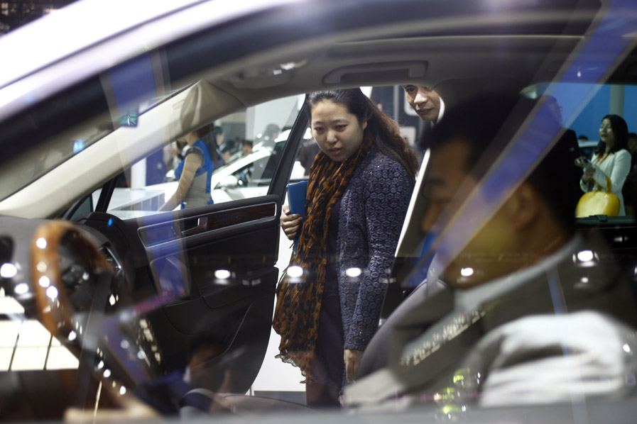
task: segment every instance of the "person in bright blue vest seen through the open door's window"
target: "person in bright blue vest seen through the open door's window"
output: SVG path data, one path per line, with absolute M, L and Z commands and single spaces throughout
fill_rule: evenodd
M 170 199 L 160 206 L 159 211 L 172 211 L 177 206 L 182 209 L 211 205 L 210 179 L 214 162 L 202 137 L 208 133 L 207 127 L 186 134 L 187 143 L 184 158 L 175 169 L 175 179 L 179 181 L 177 190 Z

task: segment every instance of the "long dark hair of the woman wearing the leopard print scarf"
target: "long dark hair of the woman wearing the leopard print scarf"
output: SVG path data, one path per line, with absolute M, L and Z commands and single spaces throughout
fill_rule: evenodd
M 306 102 L 309 108 L 307 113 L 312 115 L 312 106 L 321 101 L 328 100 L 342 104 L 349 113 L 358 118 L 359 124 L 367 123 L 364 136 L 369 134 L 374 139 L 374 144 L 387 157 L 395 160 L 407 171 L 411 182 L 415 182 L 415 174 L 418 171 L 418 159 L 415 152 L 407 145 L 401 136 L 398 123 L 374 104 L 361 89 L 337 89 L 327 91 L 315 91 L 307 94 Z

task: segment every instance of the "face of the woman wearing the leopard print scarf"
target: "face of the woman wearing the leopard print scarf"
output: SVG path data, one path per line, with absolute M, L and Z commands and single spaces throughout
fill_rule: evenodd
M 354 155 L 363 143 L 363 131 L 367 128 L 367 123 L 361 125 L 347 107 L 330 100 L 312 106 L 310 125 L 321 150 L 336 162 Z

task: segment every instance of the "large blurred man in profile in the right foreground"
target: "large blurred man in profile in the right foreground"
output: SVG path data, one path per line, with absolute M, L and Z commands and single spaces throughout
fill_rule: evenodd
M 427 135 L 421 225 L 444 234 L 433 277 L 449 289 L 398 307 L 389 364 L 346 389 L 348 406 L 429 403 L 444 407 L 445 420 L 462 420 L 476 404 L 568 403 L 633 390 L 633 289 L 616 264 L 597 259 L 610 257 L 604 240 L 575 235 L 575 193 L 556 184 L 568 145 L 551 145 L 560 125 L 545 108 L 533 116 L 535 105 L 482 95 L 450 108 Z M 538 125 L 516 140 L 522 150 L 509 149 L 529 116 Z M 530 164 L 520 184 L 489 174 L 514 177 L 507 160 Z

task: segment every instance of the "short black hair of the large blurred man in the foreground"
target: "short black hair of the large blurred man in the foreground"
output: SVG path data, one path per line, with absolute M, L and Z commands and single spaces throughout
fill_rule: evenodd
M 543 153 L 546 155 L 530 170 L 526 182 L 543 197 L 556 220 L 570 230 L 575 219 L 575 204 L 579 193 L 564 175 L 575 164 L 570 160 L 567 143 L 555 142 L 562 131 L 554 114 L 545 107 L 533 114 L 535 106 L 538 106 L 538 101 L 523 96 L 481 94 L 445 112 L 445 118 L 423 135 L 421 147 L 430 148 L 434 152 L 449 140 L 466 141 L 471 152 L 464 166 L 472 177 L 479 180 L 491 169 L 521 125 L 532 118 L 533 125 L 525 129 L 532 131 L 530 140 L 536 146 L 552 147 L 549 152 L 535 152 L 538 157 Z M 534 152 L 530 151 L 529 154 L 533 155 Z

